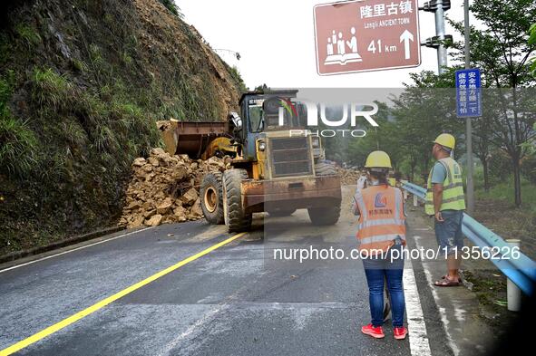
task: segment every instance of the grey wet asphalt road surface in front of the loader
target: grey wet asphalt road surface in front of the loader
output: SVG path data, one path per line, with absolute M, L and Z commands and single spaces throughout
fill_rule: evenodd
M 410 355 L 411 342 L 395 341 L 390 323 L 384 340 L 359 332 L 370 320 L 360 261 L 273 260 L 281 247 L 349 251 L 356 227 L 346 210 L 323 229 L 307 211 L 258 216 L 249 234 L 17 354 Z M 159 226 L 0 273 L 0 350 L 229 236 L 204 221 Z M 419 287 L 426 342 L 434 355 L 451 354 L 419 264 L 406 267 Z

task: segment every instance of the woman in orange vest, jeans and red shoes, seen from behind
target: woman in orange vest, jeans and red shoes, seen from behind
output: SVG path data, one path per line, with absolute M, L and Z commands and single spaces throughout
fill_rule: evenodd
M 384 151 L 368 155 L 365 168 L 369 185 L 357 189 L 354 214 L 359 215 L 357 240 L 359 255 L 365 267 L 372 321 L 361 332 L 376 339 L 384 338 L 384 281 L 387 281 L 395 339 L 407 335 L 404 327 L 404 271 L 405 245 L 404 198 L 399 188 L 391 187 L 387 175 L 391 159 Z

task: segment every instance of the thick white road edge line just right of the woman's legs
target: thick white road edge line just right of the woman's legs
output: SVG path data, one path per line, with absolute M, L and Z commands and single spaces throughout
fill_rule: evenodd
M 409 262 L 411 263 L 411 260 Z M 409 348 L 412 356 L 428 356 L 431 354 L 430 342 L 428 341 L 426 324 L 424 323 L 423 308 L 417 291 L 413 265 L 404 268 L 403 281 Z

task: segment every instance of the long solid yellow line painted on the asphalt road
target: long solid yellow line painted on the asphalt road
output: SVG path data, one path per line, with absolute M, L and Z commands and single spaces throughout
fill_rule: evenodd
M 122 298 L 123 296 L 125 296 L 125 295 L 127 295 L 129 293 L 134 292 L 137 289 L 140 289 L 142 286 L 150 284 L 153 281 L 156 281 L 160 277 L 175 271 L 176 269 L 182 267 L 183 265 L 187 265 L 190 262 L 197 260 L 198 258 L 202 257 L 203 255 L 209 254 L 210 252 L 214 251 L 215 249 L 221 247 L 222 245 L 229 244 L 229 242 L 232 242 L 232 241 L 236 240 L 237 238 L 243 236 L 244 234 L 245 233 L 240 233 L 240 234 L 237 234 L 235 236 L 231 236 L 227 240 L 222 241 L 222 242 L 220 242 L 219 244 L 216 244 L 216 245 L 211 245 L 209 248 L 201 251 L 200 253 L 198 253 L 196 255 L 191 255 L 190 257 L 180 261 L 179 263 L 177 263 L 175 265 L 171 265 L 170 267 L 162 270 L 159 273 L 152 274 L 150 277 L 145 278 L 141 282 L 138 282 L 137 284 L 132 284 L 130 287 L 123 289 L 121 292 L 115 293 L 115 294 L 109 296 L 106 299 L 102 299 L 101 302 L 94 303 L 92 306 L 84 309 L 83 311 L 75 313 L 75 314 L 71 315 L 70 317 L 63 319 L 63 321 L 61 321 L 61 322 L 56 322 L 54 325 L 49 326 L 48 328 L 42 330 L 41 332 L 34 333 L 34 335 L 32 335 L 32 336 L 30 336 L 30 337 L 28 337 L 28 338 L 26 338 L 26 339 L 24 339 L 24 340 L 22 340 L 20 342 L 14 343 L 13 345 L 9 346 L 8 348 L 0 351 L 0 356 L 11 355 L 12 353 L 14 353 L 16 351 L 24 349 L 26 346 L 29 346 L 29 345 L 33 344 L 34 342 L 38 342 L 41 339 L 44 339 L 45 337 L 47 337 L 48 335 L 53 334 L 54 332 L 58 332 L 58 331 L 62 330 L 64 327 L 71 325 L 73 322 L 79 321 L 80 319 L 82 319 L 83 317 L 88 316 L 91 313 L 95 313 L 96 311 L 98 311 L 99 309 L 102 309 L 106 305 L 108 305 L 108 304 L 110 304 L 110 303 L 112 303 L 114 301 L 117 301 L 118 299 Z

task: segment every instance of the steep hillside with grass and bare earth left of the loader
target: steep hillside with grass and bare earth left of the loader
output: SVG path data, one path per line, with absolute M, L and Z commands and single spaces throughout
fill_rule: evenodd
M 156 120 L 236 110 L 238 72 L 158 0 L 0 10 L 0 254 L 115 224 Z

